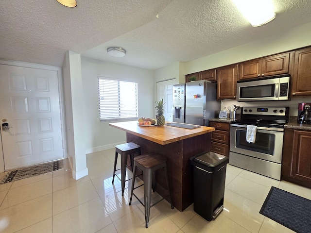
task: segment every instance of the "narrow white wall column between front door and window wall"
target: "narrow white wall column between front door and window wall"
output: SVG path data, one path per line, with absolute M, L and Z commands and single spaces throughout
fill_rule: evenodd
M 66 52 L 63 76 L 68 156 L 72 166 L 72 177 L 78 180 L 88 174 L 85 134 L 82 127 L 85 123 L 85 116 L 83 109 L 81 57 L 79 53 Z

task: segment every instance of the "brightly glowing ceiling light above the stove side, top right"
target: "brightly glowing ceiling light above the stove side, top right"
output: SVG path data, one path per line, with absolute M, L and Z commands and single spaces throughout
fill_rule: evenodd
M 232 0 L 244 17 L 258 27 L 275 19 L 274 7 L 271 0 Z

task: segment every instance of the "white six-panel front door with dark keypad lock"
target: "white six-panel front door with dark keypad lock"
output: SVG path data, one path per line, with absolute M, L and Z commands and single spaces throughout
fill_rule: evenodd
M 57 71 L 0 65 L 0 124 L 5 170 L 62 159 Z

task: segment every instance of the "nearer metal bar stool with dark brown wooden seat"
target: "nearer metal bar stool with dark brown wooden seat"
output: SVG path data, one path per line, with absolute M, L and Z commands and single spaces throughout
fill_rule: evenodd
M 164 168 L 165 171 L 165 177 L 166 177 L 166 183 L 168 186 L 168 192 L 169 192 L 169 200 L 171 203 L 171 208 L 173 209 L 173 202 L 171 197 L 171 188 L 169 183 L 169 176 L 167 172 L 167 166 L 166 166 L 166 158 L 159 154 L 144 154 L 140 155 L 134 158 L 134 168 L 133 168 L 133 181 L 132 181 L 132 189 L 131 189 L 131 198 L 129 205 L 132 204 L 132 197 L 133 195 L 136 197 L 136 199 L 145 207 L 145 219 L 146 219 L 146 228 L 148 228 L 149 223 L 149 216 L 150 216 L 150 208 L 153 207 L 155 204 L 159 203 L 160 201 L 164 200 L 162 198 L 161 200 L 158 200 L 153 205 L 151 205 L 151 189 L 154 188 L 155 184 L 155 171 Z M 142 203 L 138 197 L 133 193 L 134 189 L 140 187 L 134 188 L 135 178 L 136 178 L 136 169 L 139 168 L 143 172 L 143 184 L 144 185 L 144 203 Z

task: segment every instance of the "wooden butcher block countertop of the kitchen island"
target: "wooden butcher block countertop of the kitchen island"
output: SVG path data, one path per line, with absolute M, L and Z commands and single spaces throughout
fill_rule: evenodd
M 166 122 L 171 123 L 171 122 Z M 215 130 L 213 127 L 200 126 L 195 129 L 184 129 L 173 126 L 138 126 L 138 121 L 125 121 L 109 124 L 112 127 L 132 133 L 149 141 L 166 145 L 186 138 L 198 136 L 204 133 L 210 133 Z

